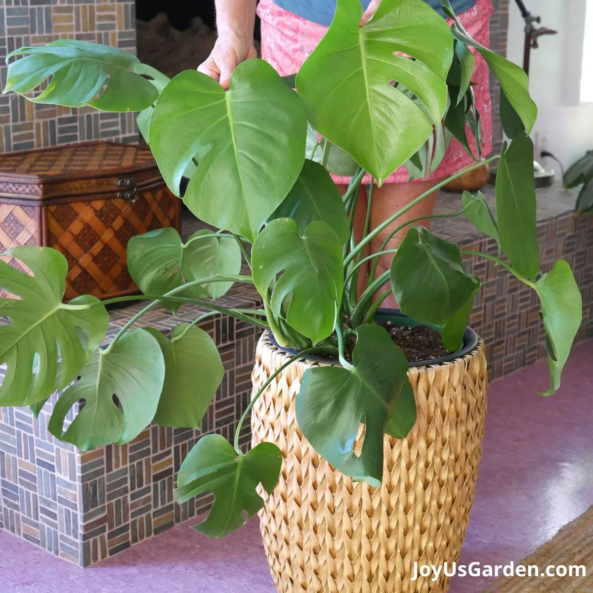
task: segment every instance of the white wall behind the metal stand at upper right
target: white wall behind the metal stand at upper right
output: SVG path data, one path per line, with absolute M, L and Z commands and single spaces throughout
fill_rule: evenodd
M 527 9 L 541 16 L 541 25 L 558 31 L 540 37 L 531 50 L 530 93 L 538 106 L 533 138 L 536 155 L 553 152 L 568 167 L 593 149 L 593 103 L 579 104 L 585 7 L 593 0 L 525 0 Z M 514 0 L 509 2 L 507 57 L 522 66 L 524 21 Z M 585 75 L 593 76 L 593 72 Z M 556 168 L 553 161 L 543 164 Z

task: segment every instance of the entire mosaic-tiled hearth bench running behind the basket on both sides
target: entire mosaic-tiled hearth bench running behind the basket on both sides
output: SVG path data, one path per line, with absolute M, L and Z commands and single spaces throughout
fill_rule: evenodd
M 493 190 L 485 193 L 493 203 Z M 593 216 L 575 219 L 574 203 L 572 193 L 557 188 L 538 191 L 543 268 L 549 269 L 557 257 L 574 266 L 584 300 L 578 335 L 582 340 L 593 336 Z M 443 195 L 437 206 L 439 213 L 457 211 L 460 197 Z M 185 234 L 193 232 L 195 224 L 186 221 Z M 492 240 L 477 235 L 463 219 L 438 219 L 433 229 L 466 250 L 496 251 Z M 469 257 L 466 263 L 483 281 L 471 325 L 489 344 L 490 376 L 500 377 L 544 356 L 539 306 L 530 291 L 491 262 Z M 235 307 L 259 305 L 250 288 L 226 298 Z M 112 311 L 110 331 L 121 327 L 139 306 Z M 143 323 L 166 331 L 196 313 L 197 309 L 181 308 L 173 319 L 154 310 Z M 173 502 L 176 472 L 201 434 L 234 436 L 250 397 L 258 331 L 223 316 L 201 327 L 215 338 L 227 369 L 201 431 L 150 426 L 128 445 L 81 454 L 47 433 L 49 404 L 39 420 L 28 409 L 0 408 L 0 528 L 89 566 L 205 511 L 211 502 L 208 496 L 181 506 Z M 246 426 L 241 443 L 247 446 L 249 440 Z

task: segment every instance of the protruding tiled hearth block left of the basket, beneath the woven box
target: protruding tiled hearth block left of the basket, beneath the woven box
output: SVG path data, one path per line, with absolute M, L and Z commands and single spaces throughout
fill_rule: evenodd
M 261 306 L 253 289 L 232 291 L 221 304 Z M 109 335 L 143 306 L 112 311 Z M 200 313 L 200 308 L 188 306 L 172 317 L 155 309 L 141 324 L 166 333 Z M 127 445 L 81 453 L 47 432 L 57 396 L 39 420 L 28 408 L 0 408 L 0 528 L 65 560 L 90 566 L 208 509 L 209 494 L 181 506 L 174 503 L 174 476 L 200 435 L 217 432 L 234 439 L 251 396 L 259 330 L 222 315 L 199 327 L 211 334 L 225 366 L 199 431 L 149 426 Z M 247 422 L 242 447 L 247 448 L 250 439 Z

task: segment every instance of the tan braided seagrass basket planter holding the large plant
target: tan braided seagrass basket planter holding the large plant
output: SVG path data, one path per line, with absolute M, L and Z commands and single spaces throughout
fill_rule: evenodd
M 257 390 L 289 358 L 264 333 Z M 263 544 L 279 593 L 445 593 L 449 578 L 415 576 L 418 565 L 458 560 L 474 500 L 486 416 L 482 340 L 451 362 L 411 367 L 416 425 L 385 437 L 382 486 L 353 483 L 302 436 L 295 397 L 305 370 L 288 366 L 254 404 L 253 444 L 283 455 L 279 483 L 260 512 Z

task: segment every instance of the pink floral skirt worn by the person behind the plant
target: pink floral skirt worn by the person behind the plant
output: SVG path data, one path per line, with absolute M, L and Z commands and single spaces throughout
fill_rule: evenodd
M 490 0 L 477 0 L 473 8 L 459 15 L 461 23 L 468 33 L 477 41 L 488 47 L 490 43 L 490 17 L 494 9 Z M 302 63 L 315 49 L 327 31 L 327 27 L 312 23 L 298 15 L 276 6 L 273 0 L 260 0 L 257 14 L 262 20 L 262 58 L 272 64 L 280 76 L 295 74 Z M 449 21 L 451 24 L 451 21 Z M 474 51 L 474 50 L 472 50 Z M 476 68 L 472 81 L 477 82 L 474 87 L 476 106 L 480 112 L 482 138 L 484 141 L 483 154 L 492 150 L 492 104 L 490 102 L 489 69 L 486 60 L 476 55 Z M 468 138 L 471 135 L 468 131 Z M 471 146 L 471 142 L 470 142 Z M 429 180 L 442 179 L 451 176 L 474 162 L 457 139 L 453 138 L 445 158 Z M 349 177 L 332 176 L 338 184 L 346 184 Z M 385 183 L 407 183 L 409 174 L 404 167 L 400 167 L 391 174 Z M 420 181 L 420 180 L 419 180 Z M 368 176 L 365 182 L 369 183 Z

